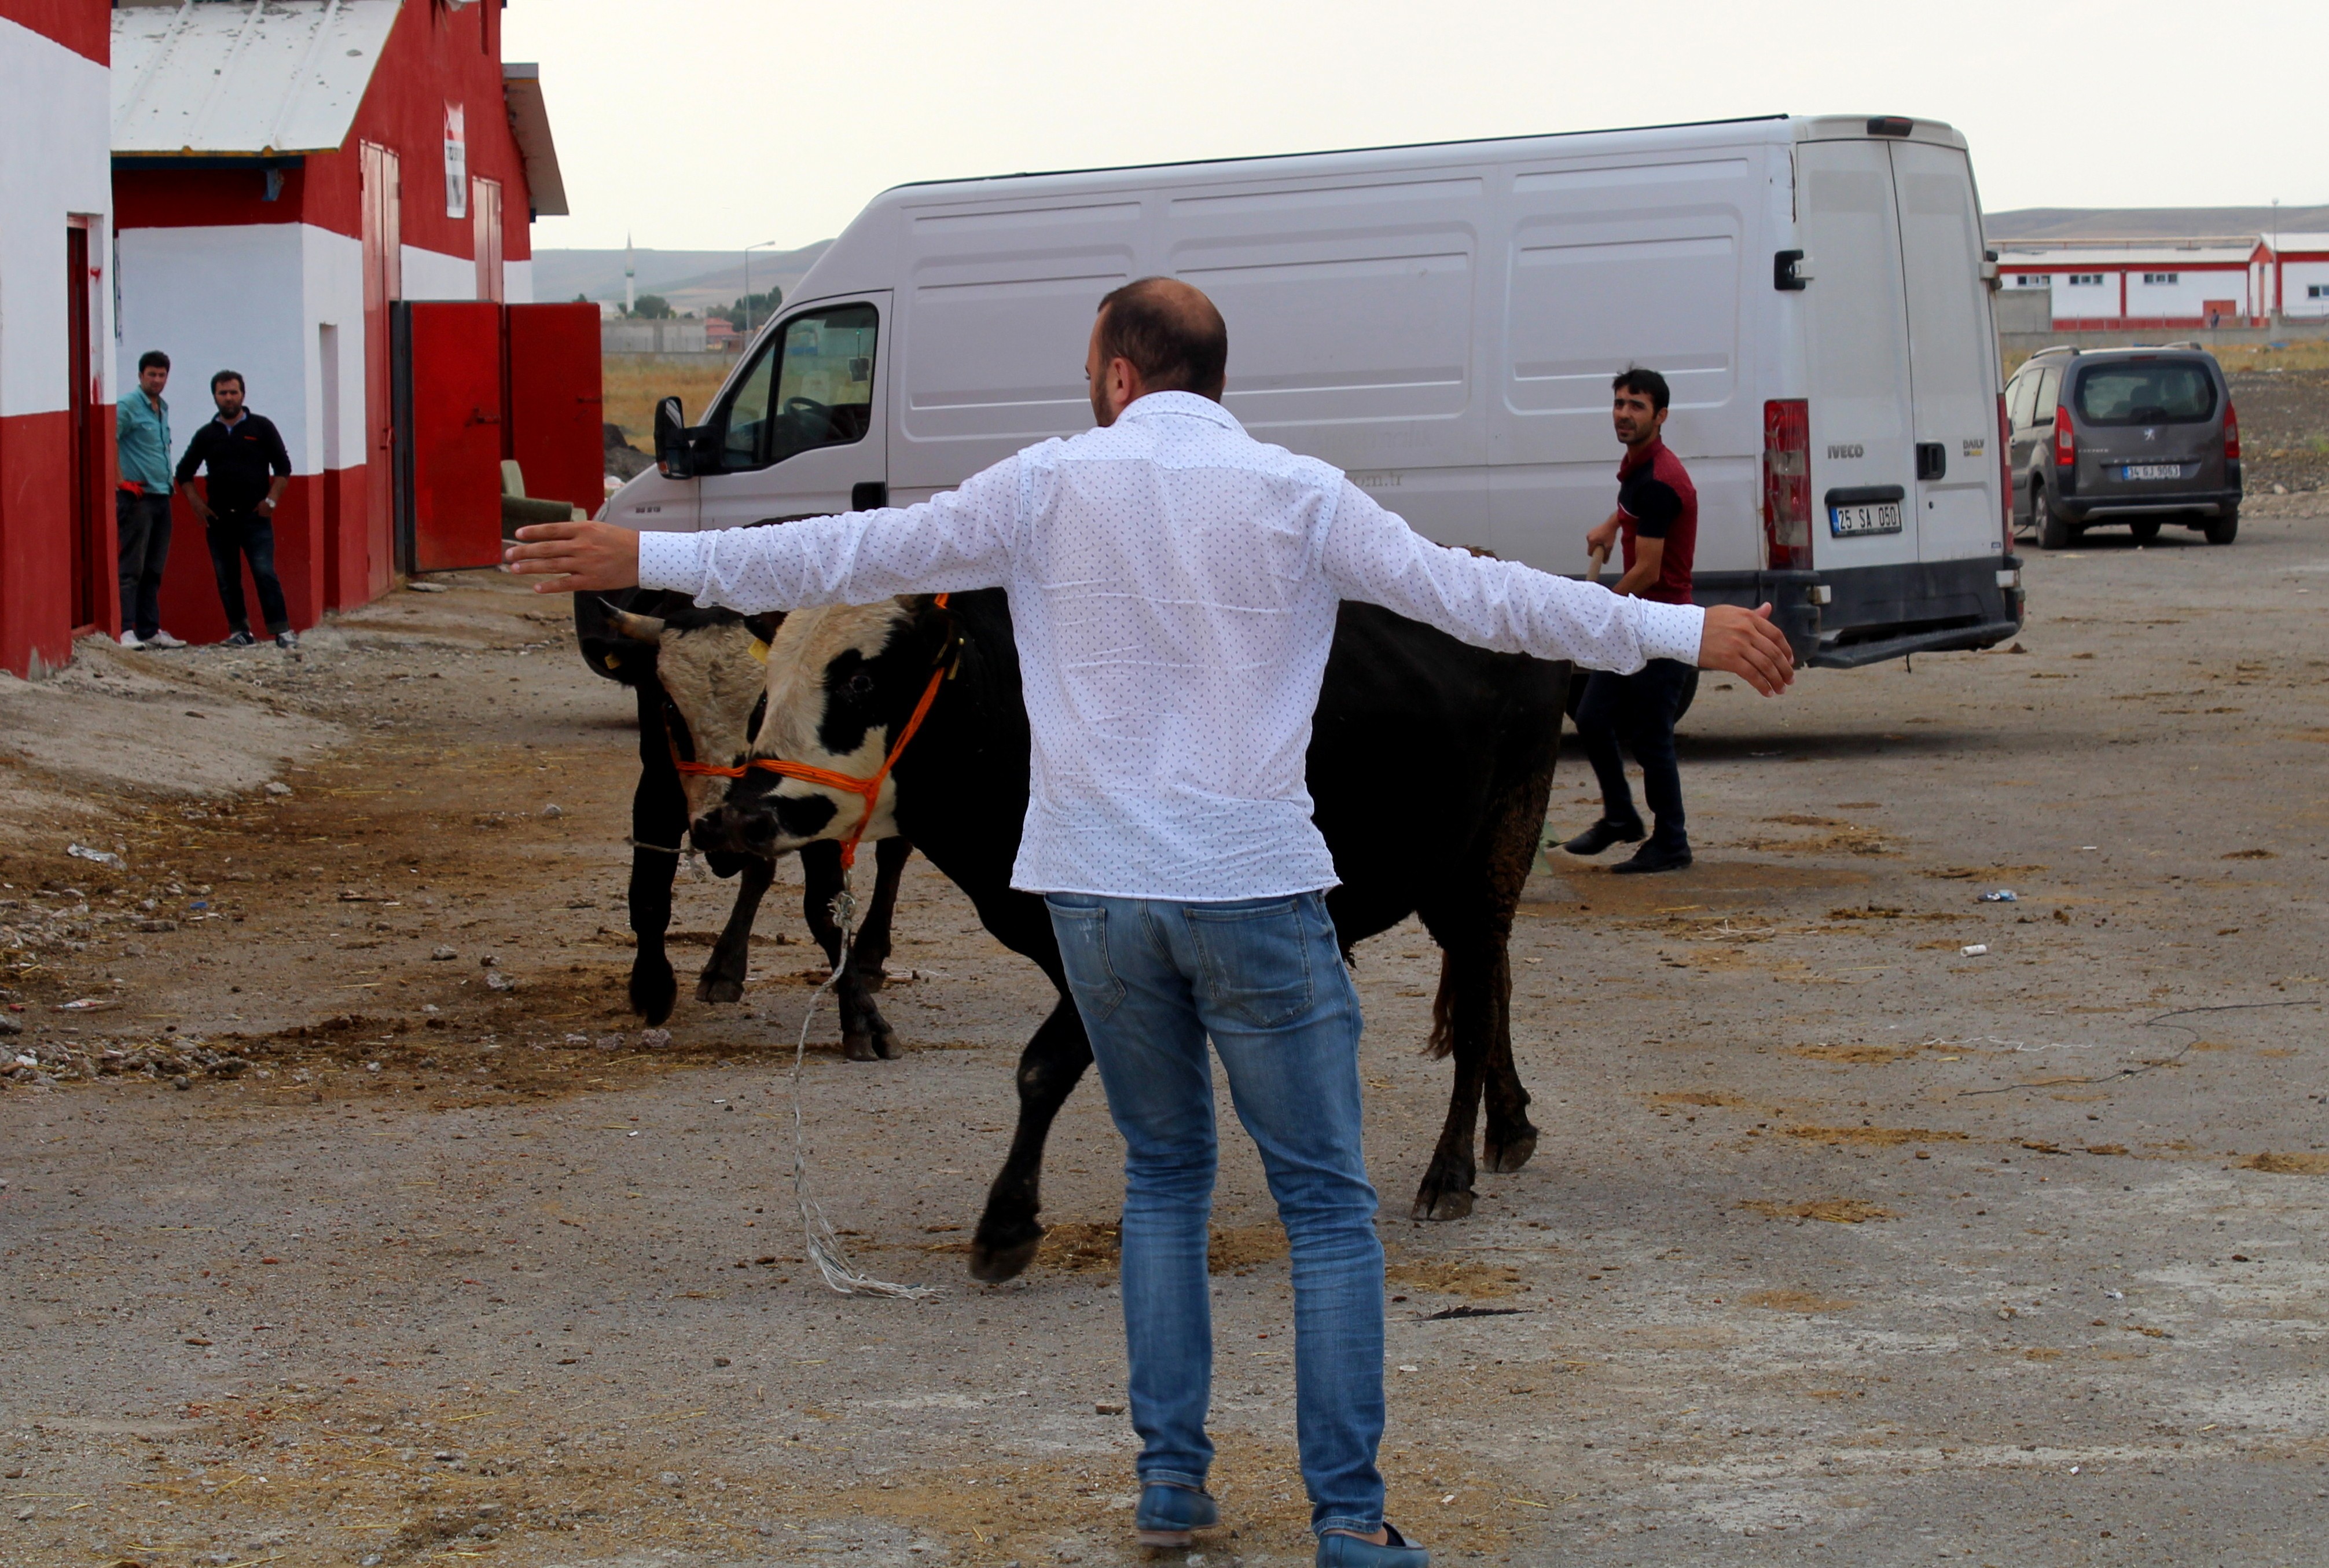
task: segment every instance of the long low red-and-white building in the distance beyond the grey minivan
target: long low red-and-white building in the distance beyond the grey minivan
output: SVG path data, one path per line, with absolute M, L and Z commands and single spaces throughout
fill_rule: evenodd
M 1998 245 L 2005 289 L 2050 289 L 2057 331 L 2261 324 L 2261 240 Z

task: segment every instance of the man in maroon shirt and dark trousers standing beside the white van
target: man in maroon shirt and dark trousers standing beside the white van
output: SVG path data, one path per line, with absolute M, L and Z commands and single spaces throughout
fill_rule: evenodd
M 1698 489 L 1682 459 L 1661 440 L 1668 389 L 1656 370 L 1633 368 L 1612 382 L 1616 438 L 1626 461 L 1616 466 L 1616 510 L 1586 534 L 1586 545 L 1607 552 L 1623 543 L 1626 575 L 1619 594 L 1663 603 L 1691 601 L 1691 557 L 1698 550 Z M 1682 769 L 1675 767 L 1675 713 L 1698 671 L 1675 659 L 1651 659 L 1633 676 L 1593 671 L 1577 704 L 1577 736 L 1586 743 L 1602 785 L 1600 820 L 1563 843 L 1572 855 L 1600 855 L 1612 843 L 1642 836 L 1633 808 L 1619 741 L 1642 764 L 1642 797 L 1658 827 L 1633 860 L 1616 871 L 1679 871 L 1691 864 L 1691 836 L 1682 825 Z

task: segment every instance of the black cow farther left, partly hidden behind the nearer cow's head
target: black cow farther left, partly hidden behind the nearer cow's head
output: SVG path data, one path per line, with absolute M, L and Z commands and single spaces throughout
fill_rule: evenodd
M 638 694 L 638 790 L 631 794 L 631 932 L 638 955 L 631 960 L 631 1011 L 647 1023 L 671 1016 L 678 979 L 664 951 L 671 927 L 671 883 L 678 874 L 682 836 L 692 815 L 720 799 L 724 781 L 706 774 L 682 774 L 678 762 L 710 760 L 722 767 L 743 762 L 766 701 L 769 638 L 783 615 L 736 615 L 668 601 L 661 615 L 610 610 L 603 638 L 589 650 L 592 664 L 615 676 Z M 752 920 L 776 881 L 769 855 L 703 848 L 715 876 L 741 876 L 736 904 L 729 909 L 720 941 L 713 944 L 703 974 L 696 979 L 699 1002 L 736 1002 L 750 967 Z M 850 1060 L 897 1055 L 897 1034 L 880 1016 L 873 993 L 890 960 L 890 916 L 897 909 L 897 883 L 913 846 L 885 839 L 873 846 L 873 895 L 862 911 L 850 965 L 834 986 L 841 1009 L 841 1048 Z M 808 932 L 824 948 L 827 962 L 841 962 L 841 930 L 831 902 L 841 892 L 841 846 L 810 843 L 801 848 L 801 913 Z

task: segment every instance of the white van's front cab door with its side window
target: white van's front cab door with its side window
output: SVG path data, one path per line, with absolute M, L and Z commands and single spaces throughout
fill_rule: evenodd
M 762 338 L 706 417 L 720 471 L 696 480 L 701 529 L 824 517 L 885 485 L 890 294 L 817 301 Z

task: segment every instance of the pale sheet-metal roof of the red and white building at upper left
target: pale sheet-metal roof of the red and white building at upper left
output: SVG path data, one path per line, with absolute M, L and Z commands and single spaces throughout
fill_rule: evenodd
M 114 154 L 338 151 L 401 0 L 114 9 Z

